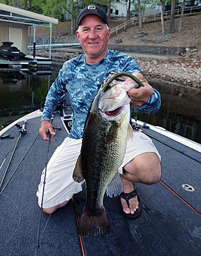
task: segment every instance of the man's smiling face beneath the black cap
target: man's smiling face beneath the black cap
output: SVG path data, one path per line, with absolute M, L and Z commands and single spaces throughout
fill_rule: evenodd
M 99 62 L 106 56 L 110 28 L 107 29 L 102 18 L 97 15 L 87 15 L 82 19 L 76 33 L 86 54 L 87 63 Z

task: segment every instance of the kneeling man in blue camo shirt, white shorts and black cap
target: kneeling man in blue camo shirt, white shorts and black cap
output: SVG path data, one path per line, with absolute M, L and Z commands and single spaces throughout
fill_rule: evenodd
M 111 71 L 130 72 L 144 83 L 144 87 L 127 92 L 132 107 L 138 107 L 146 113 L 155 113 L 160 108 L 159 92 L 142 76 L 136 61 L 129 55 L 107 48 L 110 28 L 102 9 L 94 5 L 84 8 L 78 16 L 76 34 L 84 53 L 64 63 L 48 92 L 42 114 L 40 135 L 44 140 L 49 140 L 47 131 L 51 136 L 55 135 L 50 123 L 51 114 L 61 95 L 68 91 L 73 109 L 73 125 L 70 135 L 56 149 L 47 166 L 43 200 L 43 211 L 46 213 L 63 207 L 74 193 L 82 190 L 82 185 L 72 179 L 72 173 L 82 145 L 84 121 L 96 92 Z M 133 182 L 153 184 L 161 177 L 160 155 L 149 137 L 134 132 L 133 140 L 134 143 L 127 144 L 125 159 L 119 168 L 123 183 L 122 213 L 128 217 L 138 217 L 142 212 Z M 44 173 L 37 192 L 40 206 Z

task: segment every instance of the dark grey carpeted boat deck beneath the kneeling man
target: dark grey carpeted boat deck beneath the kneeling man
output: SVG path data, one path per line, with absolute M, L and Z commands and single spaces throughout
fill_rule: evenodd
M 61 127 L 61 131 L 56 130 L 49 156 L 67 136 L 58 114 L 53 125 Z M 0 255 L 36 255 L 40 219 L 36 191 L 48 151 L 48 142 L 37 137 L 39 127 L 40 117 L 28 120 L 27 133 L 18 143 L 3 182 Z M 200 153 L 150 129 L 144 132 L 152 137 L 161 154 L 163 175 L 155 185 L 137 184 L 144 204 L 142 215 L 137 220 L 127 219 L 121 215 L 119 197 L 105 197 L 110 235 L 80 238 L 76 218 L 79 220 L 84 206 L 83 186 L 83 192 L 64 208 L 52 215 L 42 213 L 37 255 L 200 255 Z M 19 135 L 16 126 L 6 133 L 14 139 L 0 140 L 0 180 Z M 184 190 L 183 184 L 194 186 L 194 192 Z

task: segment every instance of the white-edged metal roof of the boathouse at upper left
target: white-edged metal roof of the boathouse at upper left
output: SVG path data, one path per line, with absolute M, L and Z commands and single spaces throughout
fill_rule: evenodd
M 0 21 L 21 23 L 31 26 L 49 26 L 48 24 L 58 23 L 56 18 L 29 12 L 9 5 L 3 5 L 3 3 L 0 3 Z

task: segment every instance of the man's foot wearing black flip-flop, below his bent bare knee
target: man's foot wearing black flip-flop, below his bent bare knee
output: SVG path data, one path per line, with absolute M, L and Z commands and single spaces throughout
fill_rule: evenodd
M 123 192 L 120 194 L 122 213 L 127 217 L 138 217 L 142 213 L 142 205 L 138 197 L 137 190 L 134 188 L 133 183 L 122 178 Z

